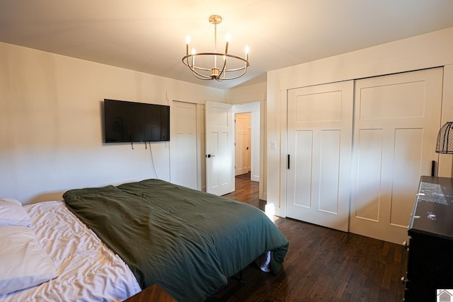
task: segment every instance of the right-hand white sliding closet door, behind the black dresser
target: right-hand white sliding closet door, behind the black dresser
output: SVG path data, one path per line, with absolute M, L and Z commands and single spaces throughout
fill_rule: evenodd
M 403 243 L 420 175 L 437 160 L 442 69 L 355 84 L 350 232 Z

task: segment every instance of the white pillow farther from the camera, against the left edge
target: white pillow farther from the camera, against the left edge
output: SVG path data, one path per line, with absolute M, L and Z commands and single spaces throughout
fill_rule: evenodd
M 0 198 L 0 226 L 31 226 L 32 222 L 21 202 Z

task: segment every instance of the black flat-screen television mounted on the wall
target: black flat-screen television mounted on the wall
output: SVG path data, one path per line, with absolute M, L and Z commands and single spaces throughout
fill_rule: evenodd
M 170 140 L 170 106 L 104 99 L 105 143 Z

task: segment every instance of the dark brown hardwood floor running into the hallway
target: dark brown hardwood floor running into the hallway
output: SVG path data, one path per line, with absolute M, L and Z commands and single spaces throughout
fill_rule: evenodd
M 258 182 L 243 176 L 225 197 L 265 206 Z M 244 284 L 231 279 L 212 301 L 403 301 L 408 255 L 402 245 L 294 219 L 275 217 L 275 224 L 289 240 L 282 271 L 274 276 L 250 265 Z

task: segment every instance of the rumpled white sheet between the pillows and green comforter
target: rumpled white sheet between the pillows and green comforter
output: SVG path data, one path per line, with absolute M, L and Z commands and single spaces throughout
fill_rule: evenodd
M 123 301 L 141 291 L 120 257 L 67 209 L 64 202 L 24 206 L 38 241 L 55 262 L 57 278 L 0 296 L 6 301 Z

